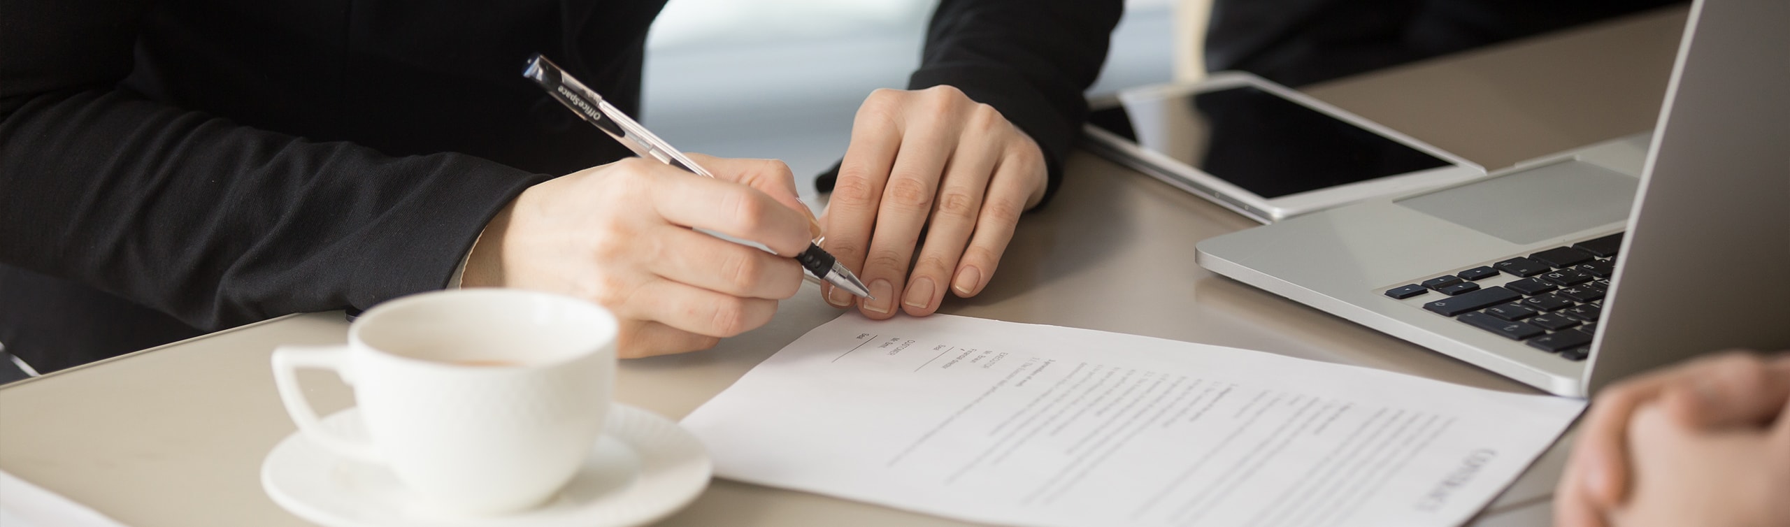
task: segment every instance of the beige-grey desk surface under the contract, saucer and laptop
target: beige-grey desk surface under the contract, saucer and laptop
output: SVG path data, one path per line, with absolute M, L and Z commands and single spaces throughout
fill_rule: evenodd
M 1684 9 L 1666 9 L 1312 86 L 1307 93 L 1461 154 L 1509 166 L 1654 125 Z M 1054 204 L 1027 214 L 997 279 L 940 313 L 1072 325 L 1360 364 L 1530 391 L 1484 370 L 1212 275 L 1194 243 L 1242 216 L 1094 155 L 1067 163 Z M 1122 289 L 1119 277 L 1165 284 Z M 777 318 L 714 350 L 625 361 L 621 402 L 682 418 L 838 311 L 806 286 Z M 306 525 L 260 486 L 294 432 L 274 393 L 276 345 L 345 339 L 340 313 L 297 314 L 0 388 L 0 468 L 129 525 Z M 304 373 L 319 409 L 351 393 Z M 1530 391 L 1532 393 L 1532 391 Z M 1561 445 L 1564 445 L 1563 441 Z M 1545 525 L 1556 445 L 1475 525 Z M 662 525 L 963 525 L 870 504 L 714 481 Z

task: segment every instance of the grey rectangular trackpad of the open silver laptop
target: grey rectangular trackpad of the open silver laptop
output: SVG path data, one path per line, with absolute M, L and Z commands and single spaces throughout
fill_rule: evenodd
M 1631 175 L 1564 161 L 1394 204 L 1529 245 L 1629 218 L 1638 186 Z

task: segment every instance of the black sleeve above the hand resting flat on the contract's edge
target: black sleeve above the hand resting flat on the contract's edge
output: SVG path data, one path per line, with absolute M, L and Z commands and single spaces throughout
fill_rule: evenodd
M 943 0 L 908 88 L 956 86 L 1026 130 L 1044 150 L 1049 200 L 1088 114 L 1083 91 L 1101 73 L 1121 14 L 1121 0 Z M 820 186 L 831 189 L 832 180 Z

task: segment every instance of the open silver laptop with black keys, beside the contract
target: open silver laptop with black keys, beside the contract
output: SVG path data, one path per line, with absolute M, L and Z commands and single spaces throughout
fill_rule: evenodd
M 1586 397 L 1790 348 L 1790 2 L 1697 0 L 1652 134 L 1205 239 L 1198 263 Z

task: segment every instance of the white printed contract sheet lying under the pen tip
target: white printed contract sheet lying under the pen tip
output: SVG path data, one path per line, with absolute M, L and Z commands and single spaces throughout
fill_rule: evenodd
M 845 314 L 684 420 L 720 477 L 1008 525 L 1455 525 L 1584 409 L 965 316 Z

